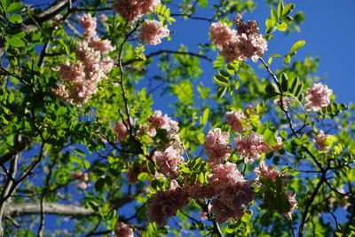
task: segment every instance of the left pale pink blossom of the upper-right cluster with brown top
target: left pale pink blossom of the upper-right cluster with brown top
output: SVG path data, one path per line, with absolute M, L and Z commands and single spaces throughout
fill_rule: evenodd
M 226 43 L 232 40 L 235 36 L 235 30 L 232 30 L 226 23 L 214 22 L 209 27 L 210 38 L 209 40 L 222 48 Z

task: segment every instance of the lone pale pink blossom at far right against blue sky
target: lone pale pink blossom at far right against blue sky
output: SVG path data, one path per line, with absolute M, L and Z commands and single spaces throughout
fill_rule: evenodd
M 305 100 L 305 108 L 307 110 L 319 111 L 321 107 L 327 107 L 330 104 L 330 96 L 333 91 L 327 88 L 327 85 L 322 83 L 312 84 L 312 88 L 307 90 Z

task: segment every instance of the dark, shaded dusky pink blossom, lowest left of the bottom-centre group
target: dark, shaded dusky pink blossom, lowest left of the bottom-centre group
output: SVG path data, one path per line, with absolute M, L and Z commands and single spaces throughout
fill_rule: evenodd
M 177 210 L 187 204 L 187 197 L 180 187 L 156 192 L 146 205 L 149 221 L 155 221 L 158 226 L 166 225 L 169 217 L 175 216 Z

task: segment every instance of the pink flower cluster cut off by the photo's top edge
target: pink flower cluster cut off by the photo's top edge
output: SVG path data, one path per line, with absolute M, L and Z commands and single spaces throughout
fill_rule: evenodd
M 143 15 L 154 12 L 154 8 L 161 4 L 161 0 L 114 0 L 112 8 L 122 18 L 135 22 Z

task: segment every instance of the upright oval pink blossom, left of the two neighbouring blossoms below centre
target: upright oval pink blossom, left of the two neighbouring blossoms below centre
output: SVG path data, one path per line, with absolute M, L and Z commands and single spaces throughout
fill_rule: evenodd
M 231 144 L 227 142 L 229 133 L 220 129 L 209 130 L 209 134 L 205 137 L 203 148 L 209 157 L 209 162 L 221 163 L 227 160 L 231 154 L 229 148 Z

